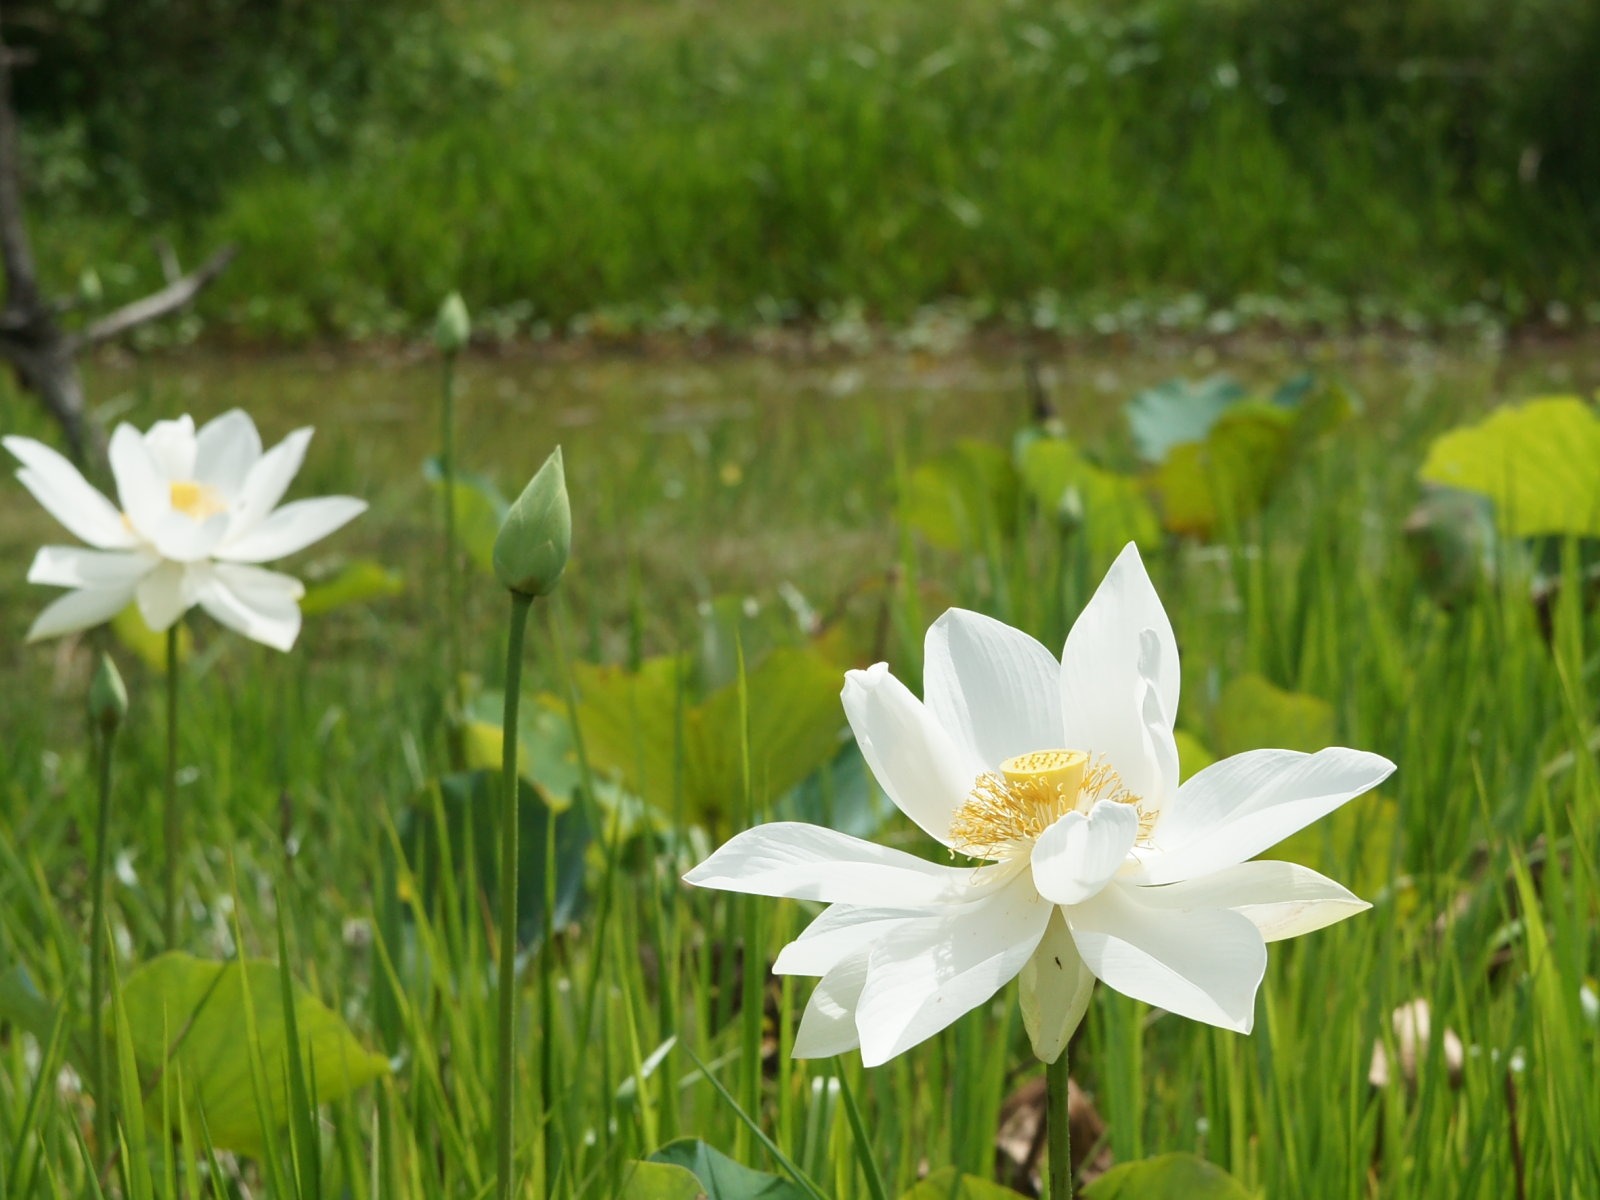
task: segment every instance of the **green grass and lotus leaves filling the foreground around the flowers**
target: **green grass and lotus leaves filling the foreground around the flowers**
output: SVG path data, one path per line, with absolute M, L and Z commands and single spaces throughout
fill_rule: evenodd
M 696 893 L 678 875 L 710 840 L 774 814 L 926 846 L 842 746 L 837 707 L 834 738 L 811 736 L 838 672 L 886 658 L 917 678 L 923 629 L 950 603 L 1059 643 L 1106 547 L 1128 534 L 1149 547 L 1182 645 L 1187 770 L 1248 744 L 1323 741 L 1400 770 L 1290 843 L 1374 910 L 1274 947 L 1251 1037 L 1098 989 L 1072 1064 L 1117 1162 L 1187 1150 L 1256 1194 L 1330 1200 L 1600 1192 L 1600 614 L 1582 578 L 1590 544 L 1550 539 L 1594 514 L 1552 507 L 1536 530 L 1549 541 L 1533 546 L 1518 541 L 1533 526 L 1499 512 L 1493 554 L 1450 589 L 1422 534 L 1461 530 L 1408 530 L 1405 517 L 1419 472 L 1515 502 L 1494 443 L 1451 430 L 1502 386 L 1555 390 L 1554 366 L 1514 365 L 1504 384 L 1474 363 L 1405 378 L 1354 366 L 1344 374 L 1368 381 L 1357 406 L 1326 384 L 1278 389 L 1275 368 L 1237 390 L 1152 392 L 1155 368 L 1074 362 L 1066 424 L 1042 427 L 1005 403 L 1010 371 L 984 363 L 461 366 L 459 461 L 510 490 L 560 438 L 573 501 L 573 560 L 549 619 L 530 627 L 518 725 L 526 1195 L 616 1197 L 627 1179 L 640 1200 L 688 1197 L 685 1171 L 723 1181 L 707 1189 L 717 1197 L 806 1195 L 797 1176 L 821 1195 L 874 1195 L 880 1179 L 901 1197 L 923 1171 L 941 1174 L 914 1197 L 995 1195 L 981 1181 L 1002 1099 L 1037 1074 L 1013 990 L 870 1072 L 854 1056 L 794 1062 L 784 1048 L 808 982 L 765 965 L 810 906 Z M 1110 370 L 1120 378 L 1098 390 Z M 205 398 L 190 403 L 190 389 Z M 491 1184 L 504 594 L 470 568 L 467 666 L 482 678 L 451 726 L 437 493 L 418 469 L 430 445 L 406 440 L 430 437 L 419 414 L 435 392 L 432 365 L 331 374 L 306 360 L 227 381 L 141 373 L 122 400 L 141 426 L 259 400 L 274 440 L 341 397 L 294 494 L 352 491 L 373 510 L 296 570 L 338 578 L 341 562 L 378 560 L 405 587 L 310 616 L 288 656 L 189 626 L 182 944 L 211 966 L 157 955 L 163 685 L 107 638 L 131 699 L 115 762 L 126 853 L 109 901 L 122 1195 L 237 1194 L 205 1178 L 386 1200 Z M 1152 438 L 1152 406 L 1184 435 Z M 0 414 L 38 432 L 26 398 L 0 397 Z M 1558 478 L 1558 445 L 1590 437 L 1595 416 L 1562 403 L 1496 421 L 1512 430 L 1499 445 Z M 1285 438 L 1282 470 L 1248 474 L 1259 464 L 1234 453 L 1238 437 Z M 19 645 L 42 594 L 21 565 L 59 531 L 21 501 L 0 512 L 0 1192 L 94 1195 L 74 1045 L 93 638 Z M 472 557 L 470 522 L 461 533 Z M 790 722 L 768 715 L 774 701 Z M 283 970 L 214 966 L 234 954 Z M 152 1067 L 152 979 L 206 987 L 208 970 L 224 1000 L 238 987 L 229 1003 L 248 1035 L 197 1022 L 171 1067 Z M 1418 997 L 1432 1037 L 1406 1046 L 1392 1013 Z M 301 1035 L 342 1046 L 326 1053 L 346 1074 L 328 1058 L 270 1058 L 259 1034 L 285 1030 L 274 1022 L 288 1013 Z M 1382 1088 L 1368 1083 L 1374 1042 L 1390 1064 Z M 238 1083 L 206 1098 L 218 1067 L 205 1053 L 229 1050 Z M 392 1070 L 357 1086 L 373 1054 Z M 333 1102 L 318 1110 L 318 1098 Z M 235 1149 L 250 1157 L 222 1154 Z M 1134 1187 L 1157 1179 L 1237 1194 L 1189 1160 L 1157 1160 L 1091 1195 L 1149 1195 Z

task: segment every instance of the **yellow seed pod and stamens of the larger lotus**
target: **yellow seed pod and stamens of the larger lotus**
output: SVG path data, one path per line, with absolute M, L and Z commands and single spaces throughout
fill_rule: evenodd
M 1083 750 L 1019 754 L 973 782 L 950 818 L 950 848 L 970 858 L 1019 858 L 1062 816 L 1086 813 L 1101 800 L 1139 803 L 1104 758 Z M 1142 818 L 1141 811 L 1141 832 Z

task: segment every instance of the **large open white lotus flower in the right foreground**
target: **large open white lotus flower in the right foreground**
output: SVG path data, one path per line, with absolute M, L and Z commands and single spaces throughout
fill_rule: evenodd
M 886 664 L 843 702 L 890 798 L 949 867 L 798 822 L 736 835 L 685 878 L 822 901 L 773 968 L 818 974 L 795 1058 L 877 1066 L 1021 976 L 1034 1051 L 1054 1062 L 1094 981 L 1250 1032 L 1269 941 L 1370 907 L 1291 862 L 1250 861 L 1382 781 L 1342 747 L 1253 750 L 1178 784 L 1178 645 L 1138 550 L 1083 610 L 1059 664 L 950 610 L 928 630 L 925 701 Z

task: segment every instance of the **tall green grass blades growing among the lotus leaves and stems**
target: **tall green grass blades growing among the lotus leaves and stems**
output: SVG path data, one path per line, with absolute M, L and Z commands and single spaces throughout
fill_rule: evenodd
M 290 368 L 261 374 L 270 370 L 283 373 L 280 382 L 294 378 Z M 821 384 L 830 373 L 808 378 Z M 430 378 L 418 376 L 419 394 Z M 581 373 L 562 378 L 594 386 Z M 656 378 L 659 386 L 659 368 Z M 742 390 L 749 378 L 763 376 L 734 374 L 723 386 Z M 627 384 L 621 400 L 547 398 L 530 418 L 530 446 L 482 451 L 510 472 L 533 442 L 542 448 L 555 421 L 574 421 L 590 403 L 602 414 L 563 434 L 578 554 L 571 587 L 533 634 L 536 686 L 563 694 L 573 658 L 626 661 L 630 646 L 688 645 L 698 627 L 690 579 L 707 592 L 766 597 L 789 578 L 827 606 L 842 576 L 882 578 L 894 566 L 888 658 L 907 680 L 918 677 L 922 630 L 944 603 L 1059 643 L 1104 563 L 1062 541 L 1053 520 L 1030 517 L 1018 542 L 982 539 L 960 554 L 928 552 L 894 528 L 896 459 L 920 461 L 955 435 L 1008 437 L 1021 411 L 1000 402 L 1008 378 L 979 373 L 960 390 L 907 395 L 896 390 L 901 366 L 869 368 L 864 392 L 848 402 L 826 400 L 821 387 L 782 398 L 774 384 L 771 411 L 755 414 L 696 411 L 718 395 L 714 376 L 701 376 L 707 390 L 688 398 L 640 402 Z M 506 427 L 483 408 L 474 414 L 493 397 L 488 379 L 488 368 L 469 371 L 467 461 L 490 445 L 491 424 Z M 323 376 L 318 395 L 325 403 L 357 384 Z M 1259 672 L 1328 701 L 1341 741 L 1400 765 L 1381 795 L 1352 802 L 1306 848 L 1310 866 L 1354 883 L 1374 910 L 1274 947 L 1248 1038 L 1099 989 L 1074 1070 L 1118 1160 L 1187 1149 L 1266 1195 L 1328 1200 L 1488 1200 L 1517 1195 L 1518 1171 L 1525 1195 L 1589 1195 L 1600 1192 L 1600 1029 L 1579 989 L 1600 973 L 1600 622 L 1579 603 L 1573 565 L 1549 635 L 1514 578 L 1448 611 L 1427 598 L 1398 528 L 1422 440 L 1494 398 L 1494 384 L 1467 371 L 1413 386 L 1390 378 L 1386 387 L 1370 387 L 1370 416 L 1325 445 L 1258 520 L 1218 546 L 1174 542 L 1150 558 L 1184 654 L 1184 728 L 1205 736 L 1221 688 Z M 1072 394 L 1078 427 L 1101 426 L 1094 445 L 1112 445 L 1115 419 L 1091 411 L 1090 384 Z M 181 395 L 155 379 L 133 414 L 144 422 Z M 368 1045 L 395 1056 L 397 1070 L 317 1118 L 302 1096 L 275 1158 L 234 1163 L 213 1155 L 200 1114 L 181 1114 L 171 1144 L 141 1126 L 125 1064 L 125 1195 L 210 1194 L 202 1165 L 240 1173 L 256 1195 L 474 1197 L 491 1179 L 493 939 L 474 899 L 482 882 L 472 856 L 445 880 L 459 902 L 432 912 L 402 902 L 419 885 L 403 864 L 398 824 L 413 802 L 413 819 L 429 819 L 426 779 L 445 762 L 426 605 L 432 509 L 421 485 L 398 474 L 410 448 L 368 432 L 390 429 L 394 413 L 350 411 L 350 424 L 314 443 L 302 485 L 370 490 L 374 510 L 349 536 L 365 539 L 360 552 L 387 547 L 411 594 L 387 610 L 309 621 L 286 658 L 202 626 L 182 747 L 195 768 L 186 787 L 189 843 L 198 848 L 187 864 L 187 938 L 210 955 L 286 955 L 288 970 Z M 678 426 L 654 424 L 669 411 Z M 742 528 L 730 507 L 726 461 L 741 464 L 741 502 L 765 530 Z M 699 462 L 709 464 L 704 478 Z M 672 478 L 683 485 L 677 501 L 662 499 Z M 11 494 L 8 512 L 26 506 L 19 490 Z M 870 538 L 845 538 L 853 533 Z M 46 536 L 54 533 L 43 518 L 8 518 L 13 584 Z M 651 546 L 656 538 L 675 538 L 669 555 Z M 696 549 L 730 539 L 738 554 Z M 806 539 L 827 547 L 837 574 L 784 568 L 795 562 L 784 542 Z M 3 590 L 0 963 L 26 963 L 46 995 L 75 997 L 88 909 L 82 830 L 94 803 L 75 714 L 90 658 L 82 645 L 18 648 L 37 597 L 13 584 Z M 474 626 L 485 672 L 499 651 L 496 608 L 483 603 Z M 117 837 L 134 856 L 112 904 L 123 976 L 157 944 L 160 909 L 149 870 L 160 837 L 160 686 L 136 664 L 128 675 L 134 707 L 120 742 Z M 741 738 L 736 723 L 722 733 Z M 762 794 L 758 773 L 750 779 L 734 811 L 747 806 L 757 821 L 774 797 Z M 808 906 L 686 890 L 677 875 L 701 853 L 696 837 L 677 827 L 602 838 L 586 867 L 587 915 L 541 950 L 552 955 L 557 987 L 547 1011 L 531 981 L 523 995 L 526 1194 L 613 1197 L 627 1160 L 683 1134 L 779 1170 L 770 1138 L 824 1195 L 867 1195 L 864 1160 L 890 1195 L 928 1166 L 987 1176 L 1000 1101 L 1037 1069 L 1013 989 L 877 1070 L 851 1056 L 790 1062 L 782 1051 L 808 984 L 770 981 L 765 965 Z M 920 845 L 904 821 L 882 837 Z M 1373 1043 L 1389 1040 L 1394 1059 L 1389 1014 L 1414 997 L 1432 1005 L 1435 1042 L 1421 1050 L 1410 1086 L 1376 1093 L 1366 1082 Z M 1467 1046 L 1459 1086 L 1438 1043 L 1445 1027 Z M 58 1074 L 61 1054 L 61 1045 L 0 1030 L 6 1195 L 96 1194 L 86 1110 L 77 1085 Z M 554 1094 L 541 1088 L 541 1056 Z M 830 1078 L 859 1106 L 866 1144 Z M 536 1149 L 546 1144 L 550 1157 Z

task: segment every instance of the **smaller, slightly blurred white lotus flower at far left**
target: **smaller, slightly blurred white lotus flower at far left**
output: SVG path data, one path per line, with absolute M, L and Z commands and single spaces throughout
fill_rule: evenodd
M 293 646 L 306 589 L 256 563 L 294 554 L 366 509 L 350 496 L 278 507 L 310 434 L 296 429 L 262 453 L 254 422 L 238 410 L 198 432 L 187 416 L 157 421 L 147 434 L 117 426 L 110 469 L 120 509 L 50 446 L 3 438 L 34 499 L 94 547 L 46 546 L 34 558 L 29 582 L 72 590 L 38 614 L 27 640 L 98 626 L 136 602 L 157 632 L 200 605 L 245 637 Z

